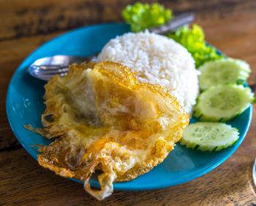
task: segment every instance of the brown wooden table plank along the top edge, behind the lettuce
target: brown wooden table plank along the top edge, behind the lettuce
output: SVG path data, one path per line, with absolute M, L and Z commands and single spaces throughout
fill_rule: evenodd
M 121 10 L 134 1 L 94 0 L 2 0 L 0 40 L 65 31 L 82 25 L 122 21 Z M 153 1 L 150 1 L 153 2 Z M 255 12 L 256 1 L 160 1 L 174 12 L 196 12 L 212 19 L 239 15 L 241 10 Z M 209 15 L 210 14 L 210 15 Z

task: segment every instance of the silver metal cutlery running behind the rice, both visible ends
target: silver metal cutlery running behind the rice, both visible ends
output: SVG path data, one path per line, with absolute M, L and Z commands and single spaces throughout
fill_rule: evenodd
M 188 25 L 192 23 L 195 19 L 193 13 L 185 13 L 183 15 L 178 15 L 170 22 L 159 27 L 154 27 L 149 29 L 150 32 L 165 34 L 171 31 L 176 31 L 182 25 Z M 42 79 L 48 81 L 52 76 L 59 74 L 60 76 L 65 76 L 69 70 L 69 65 L 72 63 L 82 63 L 89 60 L 97 60 L 97 54 L 87 56 L 87 57 L 75 57 L 69 55 L 55 55 L 52 57 L 40 58 L 29 66 L 29 74 L 36 77 L 37 79 Z

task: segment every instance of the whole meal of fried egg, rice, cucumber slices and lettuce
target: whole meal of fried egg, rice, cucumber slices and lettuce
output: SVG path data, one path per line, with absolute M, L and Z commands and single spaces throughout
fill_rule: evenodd
M 83 181 L 99 200 L 114 182 L 159 165 L 178 142 L 211 152 L 233 146 L 239 131 L 225 122 L 255 101 L 249 65 L 206 44 L 200 26 L 165 36 L 146 31 L 173 18 L 159 4 L 136 3 L 123 15 L 132 32 L 110 39 L 97 60 L 53 76 L 45 84 L 43 128 L 27 127 L 53 140 L 39 146 L 39 165 Z M 91 188 L 92 175 L 99 190 Z

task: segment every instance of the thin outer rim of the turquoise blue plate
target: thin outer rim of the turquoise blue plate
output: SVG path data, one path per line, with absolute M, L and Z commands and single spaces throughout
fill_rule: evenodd
M 75 28 L 75 29 L 72 29 L 70 31 L 66 31 L 64 33 L 61 33 L 61 34 L 53 37 L 52 39 L 49 39 L 48 41 L 45 41 L 43 44 L 40 44 L 39 47 L 34 49 L 32 52 L 30 52 L 29 55 L 26 55 L 26 58 L 24 58 L 22 60 L 22 62 L 19 64 L 19 66 L 15 69 L 14 73 L 12 74 L 10 83 L 9 83 L 9 85 L 7 87 L 6 104 L 5 104 L 7 120 L 9 122 L 9 124 L 10 124 L 10 127 L 11 127 L 11 130 L 12 130 L 13 134 L 15 135 L 15 138 L 17 138 L 17 140 L 23 146 L 23 148 L 26 150 L 26 152 L 28 152 L 29 155 L 31 157 L 33 157 L 33 159 L 35 159 L 36 161 L 37 161 L 37 157 L 34 157 L 34 154 L 31 151 L 29 151 L 29 149 L 27 149 L 27 146 L 23 143 L 22 137 L 20 136 L 19 132 L 17 130 L 15 130 L 15 128 L 13 126 L 14 123 L 11 120 L 12 118 L 11 118 L 11 115 L 10 115 L 10 108 L 9 108 L 10 107 L 10 96 L 11 96 L 11 94 L 10 94 L 10 87 L 12 86 L 13 81 L 15 81 L 15 76 L 18 75 L 17 71 L 20 70 L 20 67 L 23 65 L 23 63 L 27 59 L 31 58 L 31 56 L 34 55 L 34 52 L 37 52 L 39 49 L 41 49 L 41 47 L 45 46 L 45 44 L 49 44 L 51 41 L 55 41 L 56 39 L 61 38 L 61 36 L 66 36 L 66 35 L 69 35 L 70 33 L 75 33 L 77 31 L 80 31 L 80 30 L 83 30 L 83 29 L 86 29 L 86 28 L 102 27 L 102 26 L 106 26 L 106 25 L 108 26 L 108 25 L 127 25 L 127 24 L 126 23 L 99 23 L 99 24 L 94 24 L 94 25 L 86 25 L 86 26 L 83 26 L 83 27 L 80 27 L 80 28 Z M 219 165 L 222 165 L 223 162 L 225 162 L 231 155 L 234 154 L 234 152 L 237 150 L 237 148 L 244 141 L 244 138 L 246 137 L 246 134 L 247 134 L 247 132 L 249 130 L 249 127 L 252 124 L 252 111 L 253 111 L 253 107 L 252 107 L 252 104 L 251 104 L 249 106 L 249 119 L 248 119 L 248 124 L 246 124 L 246 128 L 244 130 L 244 135 L 240 137 L 240 140 L 238 140 L 236 145 L 233 146 L 233 148 L 232 148 L 232 150 L 230 151 L 229 154 L 227 154 L 224 158 L 222 158 L 216 164 L 211 165 L 211 167 L 201 168 L 200 172 L 197 172 L 197 173 L 191 175 L 189 178 L 186 178 L 183 181 L 178 181 L 176 183 L 169 183 L 169 182 L 167 182 L 167 183 L 159 184 L 158 186 L 153 186 L 152 185 L 152 186 L 149 186 L 149 187 L 148 186 L 143 186 L 143 185 L 140 185 L 140 186 L 133 186 L 132 185 L 132 186 L 127 186 L 126 187 L 126 186 L 118 185 L 118 183 L 125 183 L 125 182 L 117 182 L 117 183 L 113 184 L 114 185 L 114 189 L 118 190 L 118 191 L 145 191 L 145 190 L 154 190 L 154 189 L 164 189 L 164 188 L 167 188 L 167 187 L 170 187 L 170 186 L 177 186 L 177 185 L 180 185 L 180 184 L 183 184 L 183 183 L 187 183 L 187 182 L 195 180 L 195 179 L 197 179 L 197 178 L 199 178 L 199 177 L 201 177 L 203 175 L 206 175 L 206 173 L 209 173 L 211 170 L 214 170 Z M 59 176 L 59 175 L 57 175 L 57 176 Z M 61 177 L 61 176 L 59 176 L 59 177 Z M 61 177 L 61 178 L 64 178 L 64 177 Z M 79 181 L 79 180 L 77 180 L 75 178 L 69 178 L 69 179 L 71 179 L 72 181 L 75 181 L 75 182 L 82 183 L 81 181 Z M 99 187 L 99 184 L 97 183 L 97 181 L 92 181 L 91 182 L 91 186 Z

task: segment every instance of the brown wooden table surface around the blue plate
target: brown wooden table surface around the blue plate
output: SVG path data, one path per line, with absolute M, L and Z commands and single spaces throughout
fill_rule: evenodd
M 132 1 L 131 1 L 132 2 Z M 26 55 L 54 36 L 82 25 L 121 21 L 118 0 L 0 1 L 0 205 L 253 205 L 252 163 L 256 157 L 256 109 L 246 139 L 230 159 L 189 183 L 156 191 L 115 191 L 103 202 L 79 183 L 39 167 L 18 144 L 7 122 L 5 95 Z M 193 11 L 208 42 L 252 66 L 256 86 L 256 1 L 162 1 L 180 13 Z M 152 180 L 153 181 L 153 180 Z

